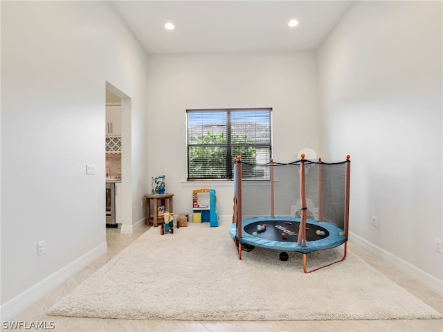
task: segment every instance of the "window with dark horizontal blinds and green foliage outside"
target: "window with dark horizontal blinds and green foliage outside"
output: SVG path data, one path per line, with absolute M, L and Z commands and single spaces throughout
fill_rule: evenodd
M 188 181 L 232 179 L 236 156 L 242 156 L 244 178 L 269 180 L 262 167 L 251 164 L 271 158 L 271 111 L 187 110 Z

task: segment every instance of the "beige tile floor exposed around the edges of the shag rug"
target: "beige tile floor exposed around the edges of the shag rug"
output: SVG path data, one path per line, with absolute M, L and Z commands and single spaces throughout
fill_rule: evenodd
M 51 293 L 39 299 L 13 321 L 53 322 L 55 329 L 50 331 L 443 331 L 443 320 L 357 320 L 357 321 L 296 321 L 296 322 L 184 322 L 184 321 L 146 321 L 146 320 L 103 320 L 92 318 L 55 317 L 45 315 L 47 308 L 81 284 L 84 279 L 96 272 L 109 259 L 123 250 L 134 239 L 148 229 L 144 226 L 134 234 L 120 234 L 117 228 L 107 228 L 108 254 L 100 257 L 79 273 L 73 275 Z M 388 266 L 369 252 L 349 242 L 349 250 L 377 268 L 381 273 L 422 299 L 426 304 L 443 313 L 442 297 L 428 291 L 410 277 Z M 3 325 L 2 325 L 3 327 Z M 2 330 L 10 331 L 10 330 Z M 14 330 L 17 331 L 17 330 Z M 29 331 L 29 329 L 27 330 Z

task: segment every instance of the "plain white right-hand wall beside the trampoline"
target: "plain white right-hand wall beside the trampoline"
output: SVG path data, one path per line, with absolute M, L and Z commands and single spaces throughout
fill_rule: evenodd
M 350 230 L 440 280 L 442 40 L 440 1 L 359 1 L 318 53 L 322 151 L 352 160 Z

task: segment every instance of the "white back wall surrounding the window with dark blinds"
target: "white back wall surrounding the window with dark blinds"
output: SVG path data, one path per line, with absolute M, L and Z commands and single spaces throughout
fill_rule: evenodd
M 148 82 L 149 175 L 165 174 L 174 212 L 190 213 L 192 190 L 210 187 L 219 215 L 233 215 L 232 182 L 182 183 L 186 109 L 272 107 L 275 161 L 290 162 L 300 149 L 318 147 L 314 53 L 152 55 Z

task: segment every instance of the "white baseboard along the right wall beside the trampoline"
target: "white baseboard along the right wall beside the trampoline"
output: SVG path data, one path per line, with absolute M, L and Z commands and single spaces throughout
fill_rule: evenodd
M 424 270 L 420 270 L 416 266 L 409 264 L 407 261 L 392 255 L 390 252 L 383 250 L 373 243 L 366 241 L 362 237 L 350 232 L 351 241 L 355 242 L 365 250 L 371 252 L 374 256 L 379 257 L 383 261 L 388 262 L 398 270 L 400 270 L 405 275 L 415 279 L 415 281 L 419 282 L 429 290 L 433 291 L 433 293 L 442 296 L 443 295 L 443 281 L 433 277 L 429 273 L 424 272 Z

